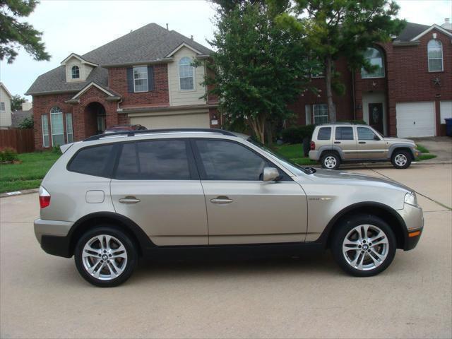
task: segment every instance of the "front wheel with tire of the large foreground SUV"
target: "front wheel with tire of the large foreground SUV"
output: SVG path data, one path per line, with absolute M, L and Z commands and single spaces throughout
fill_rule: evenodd
M 360 238 L 359 230 L 362 232 Z M 367 236 L 363 237 L 365 230 Z M 331 251 L 340 268 L 356 277 L 370 277 L 386 270 L 396 255 L 396 248 L 393 230 L 374 215 L 355 215 L 338 225 L 331 243 Z

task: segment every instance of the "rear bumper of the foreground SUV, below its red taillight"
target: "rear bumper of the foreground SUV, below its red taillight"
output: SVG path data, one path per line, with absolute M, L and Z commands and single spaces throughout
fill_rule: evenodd
M 73 222 L 37 219 L 34 225 L 36 239 L 46 253 L 66 258 L 72 256 L 68 234 Z

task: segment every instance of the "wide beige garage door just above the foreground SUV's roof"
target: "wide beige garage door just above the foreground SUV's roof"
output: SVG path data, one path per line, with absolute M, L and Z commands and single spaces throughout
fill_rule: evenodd
M 208 112 L 194 114 L 171 114 L 148 117 L 130 117 L 131 124 L 141 124 L 148 129 L 182 129 L 202 128 L 208 129 Z

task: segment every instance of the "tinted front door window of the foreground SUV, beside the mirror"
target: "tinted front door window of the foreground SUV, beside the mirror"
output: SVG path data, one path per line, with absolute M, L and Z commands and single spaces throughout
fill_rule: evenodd
M 261 180 L 268 165 L 248 148 L 228 141 L 196 141 L 208 180 Z

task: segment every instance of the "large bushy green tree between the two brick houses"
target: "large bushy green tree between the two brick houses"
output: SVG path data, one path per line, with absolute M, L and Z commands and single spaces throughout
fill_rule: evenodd
M 218 8 L 210 42 L 217 51 L 208 64 L 213 76 L 204 85 L 218 95 L 230 123 L 243 121 L 264 143 L 266 125 L 290 117 L 287 104 L 306 88 L 306 49 L 298 30 L 275 21 L 289 1 L 234 2 L 233 8 Z

